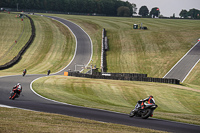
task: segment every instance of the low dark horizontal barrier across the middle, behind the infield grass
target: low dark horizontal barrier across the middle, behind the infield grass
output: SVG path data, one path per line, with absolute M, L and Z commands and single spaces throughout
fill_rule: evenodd
M 129 81 L 144 81 L 144 82 L 158 82 L 169 84 L 180 84 L 178 79 L 166 79 L 166 78 L 152 78 L 147 77 L 147 74 L 137 73 L 109 73 L 106 74 L 95 72 L 93 75 L 83 74 L 79 72 L 68 72 L 68 76 L 84 77 L 84 78 L 96 78 L 96 79 L 113 79 L 113 80 L 129 80 Z

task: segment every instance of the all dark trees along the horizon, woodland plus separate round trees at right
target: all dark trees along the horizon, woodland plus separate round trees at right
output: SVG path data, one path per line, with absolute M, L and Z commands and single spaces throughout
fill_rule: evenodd
M 107 16 L 132 16 L 137 14 L 136 4 L 121 0 L 0 0 L 0 7 L 19 10 L 43 10 L 73 13 L 96 13 Z M 138 12 L 142 17 L 159 17 L 160 9 L 154 7 L 149 11 L 147 6 L 142 6 Z M 182 10 L 182 18 L 200 19 L 200 10 Z M 175 15 L 173 15 L 175 17 Z

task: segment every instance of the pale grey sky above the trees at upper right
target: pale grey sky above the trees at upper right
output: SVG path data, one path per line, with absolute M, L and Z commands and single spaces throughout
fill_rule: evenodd
M 179 17 L 179 13 L 182 9 L 189 11 L 189 9 L 200 10 L 200 0 L 123 0 L 130 3 L 135 3 L 137 13 L 141 6 L 147 6 L 149 12 L 152 8 L 158 7 L 160 14 L 166 17 L 173 16 L 175 13 L 176 17 Z

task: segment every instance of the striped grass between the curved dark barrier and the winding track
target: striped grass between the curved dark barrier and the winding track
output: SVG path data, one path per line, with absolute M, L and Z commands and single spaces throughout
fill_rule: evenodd
M 31 17 L 36 27 L 33 43 L 18 64 L 12 68 L 1 70 L 0 75 L 22 74 L 23 69 L 27 69 L 27 74 L 46 74 L 49 69 L 54 73 L 64 68 L 73 58 L 75 38 L 64 25 L 45 17 Z M 24 20 L 29 21 L 28 18 Z M 6 37 L 9 38 L 9 36 Z M 6 41 L 2 47 L 5 44 L 7 44 Z

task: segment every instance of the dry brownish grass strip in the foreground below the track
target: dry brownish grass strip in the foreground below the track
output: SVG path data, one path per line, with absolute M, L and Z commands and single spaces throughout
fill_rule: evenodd
M 24 133 L 160 133 L 161 131 L 103 123 L 65 115 L 0 108 L 1 132 Z M 164 132 L 163 132 L 164 133 Z

